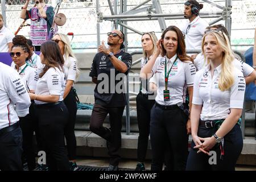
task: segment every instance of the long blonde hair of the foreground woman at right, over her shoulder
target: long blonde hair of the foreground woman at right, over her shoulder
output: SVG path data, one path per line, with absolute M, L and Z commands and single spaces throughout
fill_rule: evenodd
M 205 42 L 205 37 L 208 35 L 214 36 L 214 38 L 217 41 L 217 45 L 222 51 L 222 61 L 221 61 L 221 74 L 220 74 L 220 80 L 218 81 L 218 88 L 224 92 L 225 90 L 228 90 L 233 84 L 234 84 L 234 76 L 233 76 L 233 70 L 234 66 L 232 64 L 232 61 L 234 60 L 234 55 L 233 51 L 231 49 L 230 43 L 229 43 L 229 38 L 225 34 L 222 34 L 221 31 L 209 31 L 207 34 L 204 35 L 203 37 L 203 42 L 202 42 L 202 50 L 204 53 L 204 59 L 207 60 L 205 57 L 205 52 L 204 52 L 204 42 Z M 207 60 L 207 63 L 209 64 L 209 60 Z

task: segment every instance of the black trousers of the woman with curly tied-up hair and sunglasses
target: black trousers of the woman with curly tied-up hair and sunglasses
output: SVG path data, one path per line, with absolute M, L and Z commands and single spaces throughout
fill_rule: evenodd
M 36 128 L 36 121 L 34 117 L 34 105 L 30 105 L 30 113 L 27 114 L 25 117 L 19 118 L 20 128 L 22 129 L 23 135 L 23 156 L 27 159 L 27 166 L 30 171 L 35 169 L 36 161 L 35 161 L 35 150 L 33 146 L 33 137 L 34 131 Z M 38 134 L 38 133 L 36 133 Z

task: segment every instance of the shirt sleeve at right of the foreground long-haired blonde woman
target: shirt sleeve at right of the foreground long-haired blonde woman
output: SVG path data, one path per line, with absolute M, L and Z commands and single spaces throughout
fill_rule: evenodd
M 245 78 L 241 71 L 235 69 L 234 84 L 230 88 L 230 108 L 243 109 L 245 97 Z

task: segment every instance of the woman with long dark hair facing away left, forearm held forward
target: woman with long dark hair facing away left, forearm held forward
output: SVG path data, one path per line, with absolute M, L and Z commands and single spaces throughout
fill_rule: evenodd
M 64 127 L 68 122 L 68 109 L 63 102 L 64 59 L 59 46 L 52 41 L 42 44 L 40 58 L 45 66 L 39 74 L 35 94 L 30 93 L 30 98 L 35 100 L 49 170 L 69 171 L 64 146 Z

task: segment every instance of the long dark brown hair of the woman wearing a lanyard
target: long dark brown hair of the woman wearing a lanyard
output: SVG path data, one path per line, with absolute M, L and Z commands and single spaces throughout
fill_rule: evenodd
M 161 35 L 161 39 L 164 39 L 164 36 L 166 35 L 166 32 L 168 31 L 174 31 L 177 34 L 177 56 L 179 57 L 179 59 L 181 61 L 192 61 L 193 59 L 188 56 L 186 54 L 186 46 L 185 46 L 185 41 L 183 38 L 183 34 L 182 32 L 179 30 L 179 28 L 177 28 L 176 26 L 169 26 L 166 28 L 166 30 L 164 30 L 163 34 Z M 164 57 L 166 55 L 166 49 L 164 49 L 163 47 L 163 43 L 162 43 L 162 57 Z

